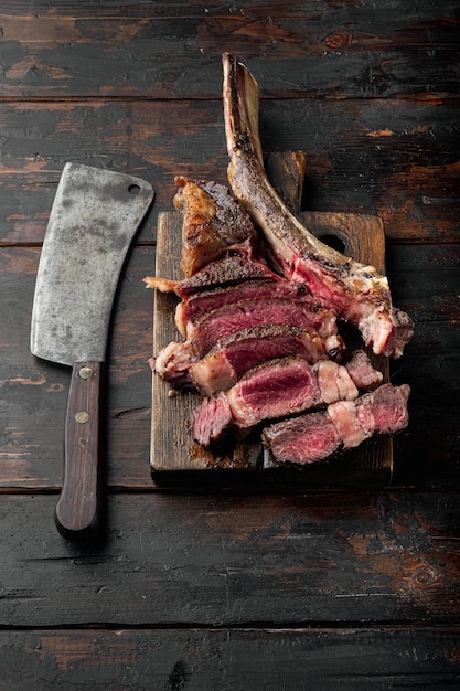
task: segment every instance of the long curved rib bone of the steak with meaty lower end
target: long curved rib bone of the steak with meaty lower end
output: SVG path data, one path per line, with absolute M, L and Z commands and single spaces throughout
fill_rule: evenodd
M 304 281 L 315 300 L 357 326 L 376 354 L 403 353 L 411 319 L 392 306 L 386 277 L 317 240 L 289 212 L 269 183 L 258 135 L 257 83 L 234 56 L 223 55 L 224 119 L 233 192 L 261 230 L 289 280 Z

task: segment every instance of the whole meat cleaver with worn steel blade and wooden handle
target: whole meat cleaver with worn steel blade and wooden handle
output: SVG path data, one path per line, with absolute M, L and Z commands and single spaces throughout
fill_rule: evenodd
M 31 351 L 72 366 L 55 522 L 68 540 L 100 529 L 100 414 L 111 307 L 124 262 L 153 200 L 132 176 L 66 163 L 36 276 Z

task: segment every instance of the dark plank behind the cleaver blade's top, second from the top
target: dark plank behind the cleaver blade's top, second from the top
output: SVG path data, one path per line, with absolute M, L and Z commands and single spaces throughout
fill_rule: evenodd
M 378 215 L 391 242 L 458 242 L 459 104 L 264 100 L 263 145 L 307 152 L 306 209 Z M 157 214 L 171 210 L 175 174 L 226 182 L 221 99 L 0 103 L 0 131 L 2 244 L 42 242 L 66 160 L 152 183 L 143 243 L 154 238 Z

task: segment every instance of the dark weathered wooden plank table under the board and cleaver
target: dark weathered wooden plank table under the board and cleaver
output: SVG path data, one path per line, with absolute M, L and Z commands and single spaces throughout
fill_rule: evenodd
M 460 685 L 459 3 L 0 2 L 0 688 Z M 416 321 L 388 487 L 157 486 L 152 274 L 173 177 L 226 181 L 221 54 L 304 209 L 378 214 Z M 109 349 L 108 529 L 53 523 L 69 373 L 29 351 L 65 161 L 149 180 Z

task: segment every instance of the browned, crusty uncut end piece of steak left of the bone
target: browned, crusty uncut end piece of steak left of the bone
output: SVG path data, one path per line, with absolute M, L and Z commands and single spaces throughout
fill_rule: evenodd
M 181 269 L 185 277 L 223 257 L 229 247 L 256 240 L 249 215 L 226 187 L 183 176 L 174 182 L 179 187 L 174 206 L 183 215 Z

